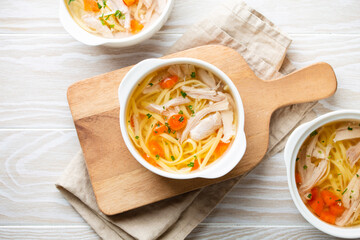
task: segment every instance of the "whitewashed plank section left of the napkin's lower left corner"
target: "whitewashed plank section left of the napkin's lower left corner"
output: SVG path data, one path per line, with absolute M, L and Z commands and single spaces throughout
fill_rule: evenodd
M 75 131 L 0 131 L 0 225 L 84 220 L 55 188 L 79 152 Z

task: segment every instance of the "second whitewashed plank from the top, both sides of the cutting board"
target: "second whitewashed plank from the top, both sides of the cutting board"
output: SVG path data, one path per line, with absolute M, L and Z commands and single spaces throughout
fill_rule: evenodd
M 158 34 L 137 47 L 119 50 L 90 48 L 68 36 L 0 36 L 0 128 L 73 128 L 66 101 L 70 84 L 159 57 L 178 37 Z M 339 90 L 325 101 L 328 108 L 357 108 L 357 101 L 349 98 L 359 97 L 360 34 L 291 37 L 289 58 L 297 67 L 317 61 L 334 67 Z

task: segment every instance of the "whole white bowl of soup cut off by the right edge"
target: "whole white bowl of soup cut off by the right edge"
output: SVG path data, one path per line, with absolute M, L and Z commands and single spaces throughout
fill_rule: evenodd
M 300 213 L 328 234 L 360 237 L 360 111 L 332 112 L 298 127 L 285 162 Z

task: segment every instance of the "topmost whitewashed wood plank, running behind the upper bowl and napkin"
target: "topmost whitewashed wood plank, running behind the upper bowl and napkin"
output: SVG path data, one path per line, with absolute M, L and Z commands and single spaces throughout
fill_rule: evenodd
M 247 0 L 249 6 L 263 13 L 287 33 L 359 33 L 359 1 Z M 59 0 L 2 1 L 0 33 L 65 33 L 58 20 Z M 173 12 L 161 29 L 183 33 L 189 25 L 215 10 L 218 0 L 176 1 Z M 15 10 L 14 10 L 15 9 Z M 30 13 L 30 14 L 19 14 Z

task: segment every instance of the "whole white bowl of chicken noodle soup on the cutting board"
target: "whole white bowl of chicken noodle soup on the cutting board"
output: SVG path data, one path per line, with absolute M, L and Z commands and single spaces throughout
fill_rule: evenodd
M 127 147 L 159 175 L 220 177 L 245 152 L 240 95 L 223 72 L 206 62 L 146 60 L 123 79 L 119 101 Z

